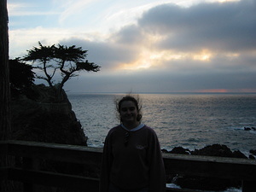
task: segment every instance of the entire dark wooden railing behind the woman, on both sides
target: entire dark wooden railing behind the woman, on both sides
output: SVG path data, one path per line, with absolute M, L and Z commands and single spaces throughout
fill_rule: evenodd
M 0 180 L 23 183 L 23 191 L 37 191 L 37 185 L 98 191 L 98 178 L 49 172 L 41 169 L 42 160 L 80 164 L 100 169 L 102 148 L 22 141 L 0 142 L 0 155 L 20 158 L 20 166 L 0 167 Z M 163 154 L 166 174 L 238 179 L 243 192 L 256 191 L 256 160 Z M 41 163 L 40 163 L 41 162 Z M 218 183 L 216 183 L 218 184 Z M 191 191 L 167 189 L 167 191 Z

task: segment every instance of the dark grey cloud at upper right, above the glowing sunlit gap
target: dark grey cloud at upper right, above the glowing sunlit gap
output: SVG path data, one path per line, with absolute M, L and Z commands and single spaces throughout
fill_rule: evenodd
M 256 3 L 201 3 L 189 8 L 163 4 L 138 21 L 147 32 L 166 35 L 162 49 L 244 50 L 256 46 Z

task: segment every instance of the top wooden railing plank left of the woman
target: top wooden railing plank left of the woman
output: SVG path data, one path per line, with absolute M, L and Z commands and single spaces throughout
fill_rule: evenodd
M 57 160 L 78 164 L 99 164 L 102 160 L 102 148 L 65 145 L 57 143 L 35 143 L 10 141 L 8 153 L 16 156 Z

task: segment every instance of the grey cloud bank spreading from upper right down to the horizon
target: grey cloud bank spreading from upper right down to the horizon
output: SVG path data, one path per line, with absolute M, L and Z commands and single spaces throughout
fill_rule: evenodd
M 152 49 L 172 49 L 190 56 L 163 59 L 160 66 L 144 70 L 109 73 L 120 63 L 137 61 L 141 46 L 148 48 L 150 35 L 165 37 L 152 43 Z M 189 8 L 163 4 L 149 9 L 137 25 L 121 28 L 106 42 L 69 39 L 62 43 L 88 49 L 88 59 L 102 66 L 101 72 L 83 73 L 79 79 L 67 82 L 66 89 L 71 91 L 256 89 L 255 1 L 201 3 Z M 213 55 L 208 61 L 193 60 L 193 53 L 202 49 L 208 49 Z

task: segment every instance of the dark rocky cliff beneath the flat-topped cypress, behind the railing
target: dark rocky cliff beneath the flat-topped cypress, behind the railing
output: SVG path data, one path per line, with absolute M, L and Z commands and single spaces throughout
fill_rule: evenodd
M 56 103 L 54 89 L 42 84 L 32 89 L 32 96 L 20 95 L 11 102 L 12 139 L 86 146 L 87 137 L 65 91 L 62 102 Z

